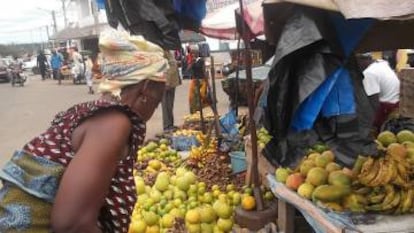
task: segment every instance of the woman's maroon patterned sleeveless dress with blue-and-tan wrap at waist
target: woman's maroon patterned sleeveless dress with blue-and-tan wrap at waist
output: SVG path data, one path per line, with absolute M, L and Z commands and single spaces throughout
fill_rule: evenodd
M 126 233 L 136 201 L 133 165 L 145 138 L 145 123 L 118 102 L 96 100 L 78 104 L 56 115 L 46 132 L 16 151 L 0 171 L 0 232 L 51 232 L 50 213 L 59 181 L 75 152 L 74 129 L 107 110 L 125 113 L 131 120 L 130 153 L 119 162 L 97 225 L 103 232 Z M 93 164 L 91 164 L 93 166 Z M 76 188 L 76 187 L 74 187 Z M 82 215 L 82 213 L 79 213 Z

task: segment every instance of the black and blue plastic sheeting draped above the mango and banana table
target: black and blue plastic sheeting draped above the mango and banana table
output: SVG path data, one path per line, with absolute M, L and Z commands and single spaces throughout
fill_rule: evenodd
M 358 38 L 341 43 L 331 18 L 330 12 L 298 8 L 281 33 L 264 120 L 273 136 L 264 155 L 274 165 L 296 166 L 317 142 L 348 167 L 359 154 L 377 154 L 369 136 L 373 109 L 349 56 Z

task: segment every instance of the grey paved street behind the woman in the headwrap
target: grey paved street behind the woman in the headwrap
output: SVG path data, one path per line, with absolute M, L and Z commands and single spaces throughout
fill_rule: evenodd
M 182 125 L 183 116 L 188 114 L 188 80 L 176 90 L 175 122 Z M 218 110 L 227 112 L 228 97 L 223 92 L 221 81 L 216 81 Z M 41 133 L 49 125 L 53 116 L 75 103 L 93 100 L 98 94 L 87 94 L 86 85 L 74 85 L 65 80 L 57 85 L 53 80 L 41 81 L 39 76 L 29 76 L 24 87 L 12 87 L 10 83 L 0 83 L 0 166 L 15 149 L 21 148 L 32 137 Z M 147 138 L 162 131 L 161 107 L 147 123 Z

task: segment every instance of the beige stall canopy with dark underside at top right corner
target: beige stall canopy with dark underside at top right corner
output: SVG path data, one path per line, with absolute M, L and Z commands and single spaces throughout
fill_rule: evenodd
M 358 27 L 358 21 L 371 19 L 371 25 L 361 34 L 355 47 L 357 52 L 414 47 L 414 4 L 411 0 L 265 0 L 264 27 L 271 44 L 277 43 L 286 21 L 298 6 L 339 12 L 350 22 L 346 25 L 349 29 L 346 33 Z M 352 25 L 353 22 L 356 23 Z

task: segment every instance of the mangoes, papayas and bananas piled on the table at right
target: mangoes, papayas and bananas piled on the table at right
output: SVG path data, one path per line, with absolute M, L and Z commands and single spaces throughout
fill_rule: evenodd
M 335 163 L 326 147 L 319 147 L 326 150 L 312 150 L 296 169 L 278 168 L 276 180 L 334 211 L 413 213 L 413 132 L 384 131 L 376 142 L 380 156 L 359 156 L 352 170 Z

